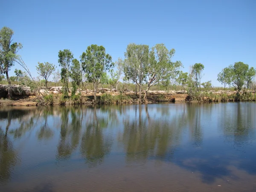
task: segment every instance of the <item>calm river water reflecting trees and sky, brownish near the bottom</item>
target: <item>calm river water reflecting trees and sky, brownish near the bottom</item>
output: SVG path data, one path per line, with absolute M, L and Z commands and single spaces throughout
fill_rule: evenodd
M 0 108 L 1 192 L 255 192 L 256 103 Z

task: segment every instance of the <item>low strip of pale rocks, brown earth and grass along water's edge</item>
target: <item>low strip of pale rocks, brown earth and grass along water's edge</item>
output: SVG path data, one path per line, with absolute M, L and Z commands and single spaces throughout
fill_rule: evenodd
M 8 94 L 8 86 L 0 84 L 0 93 Z M 48 87 L 37 91 L 31 91 L 30 87 L 12 85 L 13 99 L 0 99 L 0 106 L 38 106 L 38 105 L 95 105 L 95 104 L 136 104 L 136 103 L 160 103 L 160 102 L 239 102 L 256 101 L 255 91 L 244 90 L 240 93 L 231 90 L 204 90 L 196 93 L 194 98 L 189 96 L 186 90 L 150 90 L 146 100 L 138 99 L 134 90 L 99 88 L 96 91 L 96 102 L 93 90 L 76 90 L 74 96 L 68 93 L 64 98 L 63 87 Z M 144 96 L 145 91 L 142 91 Z

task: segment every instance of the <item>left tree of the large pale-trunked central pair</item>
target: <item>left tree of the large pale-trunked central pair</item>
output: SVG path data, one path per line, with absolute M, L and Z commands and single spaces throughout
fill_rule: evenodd
M 142 84 L 145 81 L 148 67 L 148 45 L 129 44 L 125 52 L 125 60 L 119 63 L 120 69 L 128 80 L 139 86 L 141 100 Z

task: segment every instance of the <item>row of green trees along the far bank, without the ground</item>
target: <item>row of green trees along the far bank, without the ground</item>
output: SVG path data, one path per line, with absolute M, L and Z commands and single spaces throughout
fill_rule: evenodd
M 8 84 L 11 85 L 11 80 L 26 79 L 24 84 L 29 85 L 32 81 L 32 76 L 28 67 L 22 61 L 17 52 L 22 48 L 22 44 L 13 42 L 12 35 L 14 32 L 8 27 L 3 27 L 0 30 L 0 80 L 6 76 Z M 105 47 L 92 44 L 87 47 L 85 52 L 82 52 L 79 59 L 74 58 L 73 53 L 69 49 L 60 50 L 58 52 L 58 64 L 61 67 L 60 73 L 55 73 L 55 65 L 49 62 L 38 62 L 36 70 L 41 76 L 47 87 L 49 76 L 53 74 L 53 80 L 60 78 L 63 84 L 63 97 L 68 97 L 69 83 L 72 84 L 72 95 L 77 89 L 84 87 L 84 83 L 93 85 L 94 100 L 96 101 L 96 91 L 100 83 L 107 82 L 113 88 L 117 88 L 120 82 L 129 81 L 135 84 L 136 92 L 138 87 L 139 96 L 142 99 L 142 85 L 146 84 L 145 94 L 143 99 L 147 99 L 148 91 L 154 84 L 162 84 L 167 87 L 173 82 L 183 86 L 188 91 L 189 95 L 201 92 L 201 86 L 205 90 L 212 87 L 211 81 L 201 83 L 203 77 L 204 65 L 201 63 L 193 64 L 189 73 L 184 73 L 181 61 L 172 61 L 175 55 L 175 49 L 168 49 L 164 44 L 156 44 L 153 47 L 143 44 L 128 44 L 124 53 L 124 58 L 118 58 L 116 62 L 112 61 L 110 54 L 106 53 Z M 9 77 L 9 71 L 14 66 L 15 62 L 21 64 L 26 72 L 15 70 L 15 77 Z M 114 71 L 116 66 L 117 70 Z M 110 74 L 110 77 L 107 76 Z M 233 65 L 225 67 L 218 74 L 218 81 L 224 85 L 235 87 L 237 93 L 244 88 L 255 89 L 256 70 L 249 67 L 243 62 L 236 62 Z M 29 83 L 30 82 L 30 83 Z M 35 80 L 33 80 L 35 82 Z

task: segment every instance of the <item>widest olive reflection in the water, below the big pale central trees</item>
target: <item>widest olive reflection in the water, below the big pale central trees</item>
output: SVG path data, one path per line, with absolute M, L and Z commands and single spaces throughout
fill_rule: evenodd
M 137 110 L 138 108 L 138 110 Z M 122 142 L 125 145 L 126 160 L 128 162 L 146 162 L 148 158 L 170 158 L 172 147 L 180 141 L 183 113 L 161 112 L 161 119 L 151 118 L 148 105 L 136 105 L 134 118 L 124 119 Z M 138 116 L 137 116 L 138 111 Z

